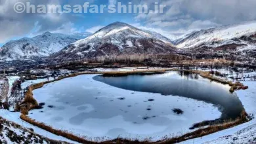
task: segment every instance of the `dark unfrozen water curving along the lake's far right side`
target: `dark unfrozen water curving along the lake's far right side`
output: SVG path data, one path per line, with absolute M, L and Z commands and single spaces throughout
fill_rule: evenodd
M 211 82 L 199 75 L 171 71 L 154 75 L 124 75 L 108 77 L 98 75 L 96 81 L 104 82 L 117 88 L 138 92 L 158 93 L 163 96 L 182 96 L 213 103 L 223 113 L 221 118 L 240 117 L 242 102 L 229 92 L 229 86 Z

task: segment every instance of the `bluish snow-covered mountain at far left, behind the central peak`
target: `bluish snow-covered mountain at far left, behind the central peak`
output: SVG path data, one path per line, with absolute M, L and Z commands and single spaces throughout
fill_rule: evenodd
M 91 35 L 91 33 L 61 33 L 46 32 L 33 38 L 23 38 L 9 41 L 0 48 L 0 61 L 35 60 L 58 52 L 70 43 Z

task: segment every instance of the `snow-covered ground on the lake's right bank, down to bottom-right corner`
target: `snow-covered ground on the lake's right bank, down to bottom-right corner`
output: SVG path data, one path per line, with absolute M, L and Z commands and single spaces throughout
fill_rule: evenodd
M 244 75 L 248 74 L 255 75 L 256 73 L 244 73 Z M 249 89 L 236 91 L 236 94 L 242 101 L 245 111 L 248 114 L 256 115 L 256 82 L 245 81 L 243 83 L 249 86 Z M 223 130 L 211 135 L 206 135 L 198 139 L 184 141 L 182 143 L 256 143 L 256 120 L 254 118 L 253 120 L 234 128 Z

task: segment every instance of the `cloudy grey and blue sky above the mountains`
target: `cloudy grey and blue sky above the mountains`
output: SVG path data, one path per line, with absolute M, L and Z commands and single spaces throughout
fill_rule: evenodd
M 167 5 L 163 14 L 18 14 L 15 3 L 28 0 L 0 0 L 0 46 L 12 39 L 33 37 L 45 31 L 59 33 L 95 32 L 112 22 L 126 22 L 136 27 L 154 30 L 176 39 L 199 29 L 237 24 L 256 19 L 255 0 L 130 0 L 133 4 L 154 7 Z M 109 5 L 127 0 L 87 0 L 90 4 Z M 30 0 L 34 5 L 82 5 L 86 0 Z

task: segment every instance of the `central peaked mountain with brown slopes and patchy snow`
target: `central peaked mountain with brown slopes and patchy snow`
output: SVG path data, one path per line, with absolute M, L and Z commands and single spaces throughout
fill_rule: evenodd
M 129 24 L 115 22 L 85 39 L 66 46 L 50 58 L 77 59 L 120 54 L 167 54 L 173 51 L 175 46 L 166 37 Z

